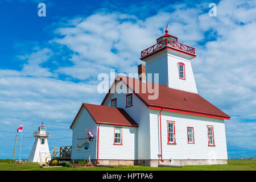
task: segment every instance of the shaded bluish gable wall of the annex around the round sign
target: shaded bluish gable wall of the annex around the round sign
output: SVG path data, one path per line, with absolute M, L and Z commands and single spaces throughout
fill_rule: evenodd
M 88 129 L 90 132 L 92 132 L 94 138 L 97 139 L 97 124 L 94 122 L 93 118 L 83 106 L 79 116 L 76 118 L 76 121 L 72 126 L 73 137 L 71 159 L 88 159 L 89 156 L 90 159 L 97 159 L 96 140 L 90 141 L 90 151 L 77 152 L 77 138 L 88 137 L 87 131 L 85 129 Z

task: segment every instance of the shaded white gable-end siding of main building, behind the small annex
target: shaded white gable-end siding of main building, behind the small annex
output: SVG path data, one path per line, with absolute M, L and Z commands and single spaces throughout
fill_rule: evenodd
M 133 94 L 133 106 L 126 107 L 127 93 L 111 93 L 106 100 L 106 106 L 111 106 L 111 100 L 117 98 L 117 107 L 125 111 L 139 125 L 137 128 L 137 159 L 150 159 L 150 118 L 149 109 L 135 94 Z

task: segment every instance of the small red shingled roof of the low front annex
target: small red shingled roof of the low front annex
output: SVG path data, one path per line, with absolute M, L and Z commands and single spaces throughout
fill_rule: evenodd
M 81 109 L 83 106 L 86 110 L 88 110 L 89 114 L 96 123 L 138 127 L 138 124 L 133 120 L 133 118 L 131 118 L 130 115 L 127 114 L 122 108 L 84 103 L 82 104 Z M 79 110 L 79 113 L 81 109 Z M 79 113 L 77 113 L 76 118 Z M 76 118 L 74 119 L 73 123 L 76 121 Z M 73 126 L 73 123 L 71 127 Z

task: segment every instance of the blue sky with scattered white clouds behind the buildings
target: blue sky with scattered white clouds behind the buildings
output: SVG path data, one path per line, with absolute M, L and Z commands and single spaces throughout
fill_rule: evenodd
M 46 17 L 38 16 L 39 2 Z M 216 17 L 208 15 L 211 2 Z M 256 155 L 255 1 L 2 0 L 0 7 L 0 158 L 12 158 L 22 122 L 23 159 L 42 122 L 50 148 L 70 145 L 81 103 L 104 98 L 97 75 L 137 72 L 141 51 L 166 24 L 196 48 L 199 94 L 232 117 L 225 121 L 228 154 Z

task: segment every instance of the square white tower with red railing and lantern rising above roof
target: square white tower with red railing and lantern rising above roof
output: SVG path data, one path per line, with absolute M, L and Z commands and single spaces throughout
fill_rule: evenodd
M 166 34 L 156 39 L 156 44 L 141 52 L 147 73 L 159 73 L 159 84 L 170 88 L 197 93 L 191 60 L 195 48 L 178 43 L 175 36 Z

